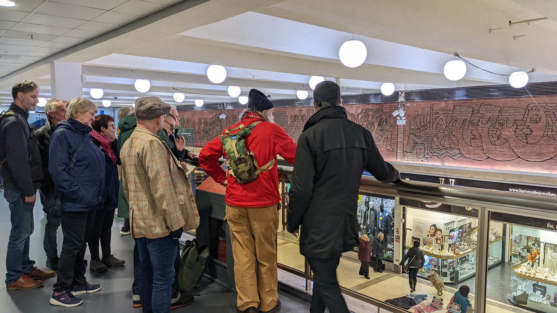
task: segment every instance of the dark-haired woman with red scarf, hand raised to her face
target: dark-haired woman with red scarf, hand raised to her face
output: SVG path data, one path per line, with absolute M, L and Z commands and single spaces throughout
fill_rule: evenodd
M 104 272 L 108 266 L 123 266 L 126 261 L 119 260 L 110 251 L 111 229 L 114 222 L 114 211 L 118 207 L 118 192 L 120 181 L 118 180 L 118 167 L 120 153 L 118 152 L 118 141 L 114 131 L 114 118 L 110 115 L 100 114 L 95 116 L 91 123 L 89 136 L 105 153 L 105 202 L 97 209 L 95 225 L 89 241 L 89 252 L 91 253 L 90 270 Z M 102 259 L 99 256 L 99 241 L 102 250 Z

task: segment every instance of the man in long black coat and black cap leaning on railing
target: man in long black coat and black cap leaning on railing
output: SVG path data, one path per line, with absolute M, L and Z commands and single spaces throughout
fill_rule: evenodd
M 336 280 L 342 252 L 358 246 L 356 206 L 363 170 L 383 183 L 400 174 L 377 150 L 372 134 L 347 119 L 340 87 L 317 84 L 316 113 L 298 139 L 290 188 L 287 231 L 300 231 L 300 253 L 314 272 L 312 313 L 348 312 Z

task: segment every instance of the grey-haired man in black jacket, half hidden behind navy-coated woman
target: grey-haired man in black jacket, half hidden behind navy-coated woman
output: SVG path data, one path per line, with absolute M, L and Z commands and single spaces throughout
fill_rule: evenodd
M 46 213 L 45 239 L 43 247 L 46 253 L 46 266 L 58 270 L 58 247 L 56 245 L 56 231 L 62 222 L 62 202 L 54 192 L 54 182 L 48 172 L 48 150 L 50 136 L 56 129 L 59 121 L 66 120 L 66 105 L 58 99 L 50 99 L 45 105 L 46 124 L 35 131 L 41 150 L 42 185 L 39 190 L 41 195 L 42 211 Z

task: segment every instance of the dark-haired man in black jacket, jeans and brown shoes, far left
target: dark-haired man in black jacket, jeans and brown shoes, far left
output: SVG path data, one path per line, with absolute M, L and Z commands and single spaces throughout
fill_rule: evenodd
M 9 111 L 0 118 L 0 164 L 12 222 L 6 253 L 7 290 L 40 287 L 43 279 L 56 275 L 55 271 L 39 270 L 29 258 L 33 206 L 43 177 L 37 137 L 27 122 L 29 111 L 38 102 L 38 86 L 20 81 L 12 87 L 12 96 Z

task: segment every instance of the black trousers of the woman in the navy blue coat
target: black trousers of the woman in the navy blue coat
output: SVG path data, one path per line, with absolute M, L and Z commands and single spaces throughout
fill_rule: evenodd
M 70 291 L 72 286 L 81 287 L 85 278 L 85 250 L 91 239 L 95 223 L 95 211 L 62 212 L 62 252 L 58 260 L 58 277 L 54 291 Z

